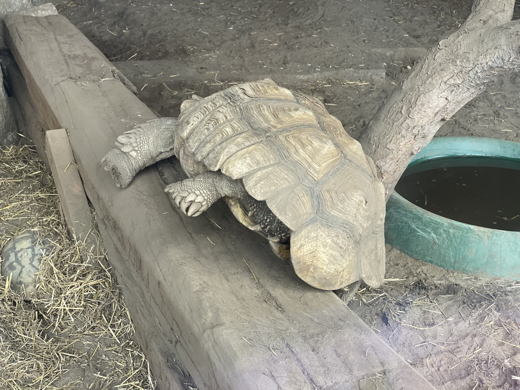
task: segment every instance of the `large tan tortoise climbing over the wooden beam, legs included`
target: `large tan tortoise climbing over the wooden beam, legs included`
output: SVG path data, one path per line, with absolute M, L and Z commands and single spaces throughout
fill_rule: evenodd
M 306 283 L 323 290 L 361 279 L 381 284 L 383 185 L 319 100 L 266 79 L 193 95 L 180 111 L 117 138 L 102 160 L 117 186 L 175 155 L 189 178 L 165 191 L 186 215 L 224 198 Z

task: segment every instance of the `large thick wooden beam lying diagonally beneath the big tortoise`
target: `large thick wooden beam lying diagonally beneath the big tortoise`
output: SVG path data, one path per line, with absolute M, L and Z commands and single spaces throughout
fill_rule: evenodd
M 433 388 L 333 293 L 298 280 L 222 205 L 184 216 L 154 168 L 116 188 L 100 160 L 117 135 L 153 113 L 65 18 L 4 20 L 44 128 L 69 130 L 103 236 L 121 253 L 111 261 L 125 298 L 139 297 L 131 314 L 160 388 L 172 388 L 164 370 L 174 364 L 200 389 Z

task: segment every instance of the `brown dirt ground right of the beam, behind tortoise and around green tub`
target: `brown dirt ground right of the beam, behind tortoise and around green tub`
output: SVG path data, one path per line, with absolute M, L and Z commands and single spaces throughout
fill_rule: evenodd
M 190 94 L 270 76 L 321 99 L 358 137 L 468 0 L 66 0 L 55 2 L 162 116 Z M 516 18 L 516 17 L 515 17 Z M 189 72 L 189 76 L 187 75 Z M 518 76 L 469 102 L 438 136 L 518 141 Z M 380 289 L 349 303 L 439 389 L 520 388 L 520 283 L 464 275 L 387 247 Z

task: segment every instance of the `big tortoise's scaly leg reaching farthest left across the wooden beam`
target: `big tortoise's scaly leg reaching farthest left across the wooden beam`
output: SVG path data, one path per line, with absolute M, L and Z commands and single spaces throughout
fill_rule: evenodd
M 176 118 L 159 118 L 125 132 L 101 162 L 112 173 L 115 185 L 125 188 L 143 168 L 174 154 Z

